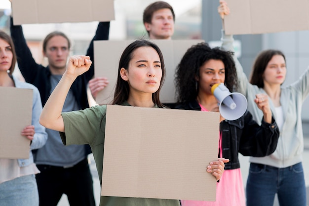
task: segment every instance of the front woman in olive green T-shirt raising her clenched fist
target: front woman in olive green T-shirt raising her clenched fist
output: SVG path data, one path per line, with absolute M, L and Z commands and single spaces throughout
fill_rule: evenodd
M 59 84 L 45 104 L 40 123 L 61 132 L 64 144 L 89 144 L 96 162 L 100 182 L 104 153 L 106 105 L 85 110 L 64 112 L 67 92 L 78 75 L 91 65 L 87 56 L 70 57 L 67 69 Z M 118 67 L 118 77 L 113 104 L 141 107 L 160 107 L 159 92 L 165 77 L 165 67 L 160 49 L 147 40 L 135 40 L 123 51 Z M 78 134 L 78 135 L 77 135 Z M 216 179 L 224 171 L 224 158 L 207 166 Z M 101 196 L 100 206 L 179 206 L 178 200 Z

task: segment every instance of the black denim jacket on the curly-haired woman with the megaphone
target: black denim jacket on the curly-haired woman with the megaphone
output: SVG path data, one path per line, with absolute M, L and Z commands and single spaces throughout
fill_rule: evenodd
M 200 110 L 199 104 L 194 101 L 187 104 L 178 104 L 176 109 Z M 239 119 L 220 123 L 222 135 L 222 154 L 230 162 L 225 163 L 225 170 L 240 168 L 238 152 L 244 156 L 263 157 L 270 155 L 277 147 L 279 129 L 272 118 L 271 124 L 262 120 L 259 126 L 249 111 Z M 220 150 L 219 150 L 220 155 Z M 219 156 L 218 155 L 218 156 Z

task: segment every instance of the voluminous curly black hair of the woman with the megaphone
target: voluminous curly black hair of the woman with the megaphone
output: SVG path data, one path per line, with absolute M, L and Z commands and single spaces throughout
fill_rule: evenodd
M 175 72 L 176 101 L 189 103 L 198 95 L 199 69 L 209 60 L 221 60 L 225 67 L 225 85 L 232 92 L 237 89 L 237 73 L 233 53 L 219 47 L 210 48 L 207 43 L 198 43 L 187 50 Z

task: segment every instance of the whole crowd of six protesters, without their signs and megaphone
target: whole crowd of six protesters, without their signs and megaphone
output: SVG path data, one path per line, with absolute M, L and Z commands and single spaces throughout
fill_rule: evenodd
M 220 0 L 220 17 L 230 12 Z M 0 31 L 0 86 L 33 89 L 32 125 L 21 132 L 31 147 L 29 159 L 0 158 L 0 205 L 56 206 L 66 194 L 72 206 L 94 206 L 87 156 L 93 154 L 101 183 L 106 105 L 89 108 L 86 91 L 89 85 L 95 98 L 109 83 L 106 77 L 93 78 L 93 41 L 109 39 L 110 22 L 98 24 L 86 55 L 69 56 L 66 34 L 48 34 L 42 44 L 48 59 L 44 67 L 35 62 L 22 26 L 13 21 L 10 36 Z M 145 8 L 143 22 L 150 39 L 170 40 L 175 13 L 167 2 L 155 1 Z M 175 70 L 176 102 L 171 104 L 173 109 L 220 112 L 211 91 L 219 83 L 247 98 L 247 111 L 239 119 L 220 115 L 218 160 L 205 166 L 217 180 L 216 201 L 101 196 L 100 206 L 272 206 L 275 194 L 280 206 L 306 206 L 301 108 L 309 94 L 309 69 L 283 88 L 285 56 L 265 50 L 248 80 L 234 56 L 232 35 L 223 30 L 221 40 L 221 48 L 201 42 L 187 50 Z M 16 63 L 27 83 L 12 75 Z M 159 99 L 164 77 L 160 48 L 150 40 L 133 41 L 120 57 L 112 104 L 166 108 Z M 238 153 L 250 156 L 246 192 Z

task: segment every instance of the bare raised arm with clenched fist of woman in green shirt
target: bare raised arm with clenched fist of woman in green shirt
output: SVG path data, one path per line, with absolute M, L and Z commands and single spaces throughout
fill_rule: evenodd
M 64 122 L 61 111 L 70 90 L 71 85 L 77 76 L 89 70 L 91 61 L 89 56 L 72 56 L 69 59 L 67 69 L 62 75 L 58 85 L 51 93 L 44 105 L 39 123 L 46 128 L 64 131 Z

